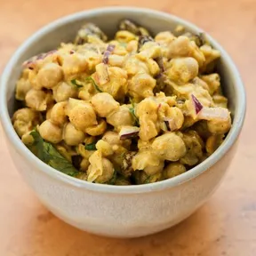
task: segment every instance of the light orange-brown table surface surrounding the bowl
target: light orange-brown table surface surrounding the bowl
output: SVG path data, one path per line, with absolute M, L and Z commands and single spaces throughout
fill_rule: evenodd
M 140 239 L 93 236 L 68 226 L 39 203 L 15 170 L 0 126 L 0 255 L 255 256 L 255 0 L 0 0 L 0 71 L 18 45 L 44 24 L 71 12 L 121 3 L 195 22 L 235 60 L 247 90 L 248 110 L 228 175 L 208 203 L 174 228 Z

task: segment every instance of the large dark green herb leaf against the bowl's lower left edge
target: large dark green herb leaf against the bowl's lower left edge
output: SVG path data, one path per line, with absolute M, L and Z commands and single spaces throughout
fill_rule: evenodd
M 34 138 L 33 153 L 42 160 L 45 164 L 52 168 L 76 177 L 80 172 L 64 157 L 60 152 L 53 147 L 52 143 L 45 141 L 36 130 L 30 132 Z

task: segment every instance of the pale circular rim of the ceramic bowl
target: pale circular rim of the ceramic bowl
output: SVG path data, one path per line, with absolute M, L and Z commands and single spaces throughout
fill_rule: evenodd
M 221 58 L 224 58 L 228 64 L 228 67 L 232 69 L 233 76 L 235 76 L 234 80 L 236 81 L 235 87 L 237 92 L 237 102 L 236 102 L 236 116 L 233 120 L 233 125 L 231 130 L 228 132 L 228 136 L 226 140 L 221 144 L 221 146 L 207 159 L 204 160 L 201 164 L 196 165 L 196 167 L 192 168 L 188 172 L 184 172 L 179 176 L 173 177 L 169 180 L 162 180 L 156 183 L 149 183 L 149 184 L 142 184 L 142 185 L 130 185 L 130 186 L 113 186 L 113 185 L 106 185 L 106 184 L 97 184 L 91 183 L 85 180 L 79 180 L 73 177 L 70 177 L 62 172 L 59 172 L 53 169 L 51 166 L 44 164 L 41 160 L 39 160 L 30 150 L 22 143 L 20 138 L 18 137 L 17 133 L 14 131 L 12 127 L 12 121 L 8 114 L 7 109 L 7 102 L 6 102 L 6 95 L 7 95 L 7 87 L 8 87 L 8 79 L 12 75 L 12 69 L 14 68 L 14 63 L 16 60 L 19 59 L 20 54 L 29 48 L 30 44 L 32 44 L 37 37 L 41 37 L 49 33 L 50 31 L 54 30 L 55 28 L 61 27 L 67 24 L 70 21 L 79 20 L 83 17 L 95 17 L 98 14 L 105 13 L 113 13 L 113 12 L 139 12 L 141 14 L 150 14 L 154 17 L 160 17 L 166 20 L 175 20 L 176 22 L 184 25 L 185 28 L 190 28 L 192 30 L 203 31 L 203 29 L 196 27 L 196 25 L 190 23 L 187 20 L 180 19 L 170 13 L 160 12 L 148 8 L 139 8 L 139 7 L 132 7 L 132 6 L 118 6 L 118 7 L 103 7 L 97 9 L 86 10 L 83 12 L 75 12 L 73 14 L 69 14 L 68 16 L 64 16 L 58 20 L 52 21 L 48 25 L 40 28 L 36 31 L 32 36 L 28 37 L 28 39 L 20 45 L 18 50 L 14 52 L 12 55 L 11 60 L 7 63 L 6 67 L 4 68 L 4 72 L 1 77 L 0 81 L 0 117 L 1 123 L 4 128 L 4 132 L 12 147 L 15 148 L 20 156 L 26 158 L 29 164 L 38 168 L 40 172 L 44 172 L 51 176 L 54 179 L 61 180 L 64 183 L 68 183 L 76 188 L 85 188 L 87 190 L 104 192 L 104 193 L 114 193 L 114 194 L 137 194 L 137 193 L 145 193 L 151 191 L 159 191 L 165 188 L 172 188 L 180 185 L 181 183 L 187 182 L 188 180 L 192 180 L 196 178 L 196 176 L 202 174 L 206 170 L 208 170 L 213 164 L 216 164 L 222 156 L 224 156 L 229 148 L 235 143 L 239 133 L 241 132 L 242 126 L 244 124 L 244 117 L 246 111 L 246 98 L 245 98 L 245 91 L 244 91 L 244 84 L 242 82 L 241 76 L 236 69 L 236 66 L 231 60 L 228 53 L 220 46 L 219 43 L 216 42 L 212 36 L 209 36 L 207 33 L 207 38 L 210 40 L 211 44 L 214 48 L 218 48 L 221 52 Z

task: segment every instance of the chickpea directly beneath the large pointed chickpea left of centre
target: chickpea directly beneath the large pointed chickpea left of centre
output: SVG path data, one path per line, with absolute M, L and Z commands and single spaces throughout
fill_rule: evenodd
M 63 140 L 69 146 L 76 146 L 82 143 L 84 139 L 85 139 L 84 132 L 77 130 L 73 124 L 68 123 L 64 126 Z

